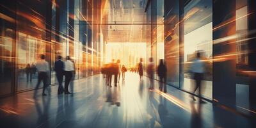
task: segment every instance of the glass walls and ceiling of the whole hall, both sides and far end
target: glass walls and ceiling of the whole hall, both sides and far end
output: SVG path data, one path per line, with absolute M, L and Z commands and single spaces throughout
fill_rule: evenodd
M 143 58 L 146 69 L 153 58 L 156 67 L 164 59 L 167 84 L 199 96 L 191 64 L 200 52 L 202 98 L 255 109 L 254 4 L 247 0 L 2 0 L 0 96 L 35 89 L 35 63 L 41 54 L 51 67 L 49 85 L 58 82 L 57 56 L 64 61 L 72 57 L 74 79 L 98 74 L 102 63 L 112 59 L 121 58 L 135 67 Z M 118 54 L 111 47 L 129 49 Z M 134 51 L 141 53 L 134 56 Z

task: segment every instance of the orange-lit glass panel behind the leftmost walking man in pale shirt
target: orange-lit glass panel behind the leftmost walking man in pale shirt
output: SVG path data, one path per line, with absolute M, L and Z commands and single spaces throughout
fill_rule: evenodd
M 45 2 L 20 1 L 17 4 L 17 90 L 22 91 L 35 88 L 38 76 L 35 63 L 40 60 L 40 55 L 45 54 L 46 59 L 51 56 L 45 51 L 49 44 L 45 41 Z

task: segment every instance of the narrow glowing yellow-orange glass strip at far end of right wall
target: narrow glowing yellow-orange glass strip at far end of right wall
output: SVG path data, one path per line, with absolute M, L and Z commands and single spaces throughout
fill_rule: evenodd
M 147 8 L 147 58 L 153 58 L 155 68 L 164 59 L 164 0 L 150 1 Z M 148 61 L 148 59 L 147 59 Z M 155 70 L 154 79 L 158 79 Z

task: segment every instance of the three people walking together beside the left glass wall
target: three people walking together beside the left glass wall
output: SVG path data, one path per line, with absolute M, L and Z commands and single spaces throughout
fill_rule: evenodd
M 73 74 L 76 74 L 75 72 L 75 66 L 74 62 L 71 60 L 70 56 L 67 56 L 67 61 L 62 61 L 62 57 L 58 56 L 58 60 L 54 63 L 54 70 L 56 72 L 56 77 L 58 80 L 58 94 L 62 94 L 63 92 L 65 94 L 71 94 L 68 92 L 68 85 L 70 84 L 70 81 L 72 79 Z M 50 72 L 50 67 L 49 63 L 45 61 L 45 55 L 42 54 L 40 56 L 40 60 L 36 62 L 36 70 L 38 72 L 38 82 L 36 84 L 36 91 L 34 93 L 34 97 L 37 93 L 37 90 L 43 82 L 43 91 L 42 95 L 46 95 L 45 89 L 47 88 L 47 79 L 48 79 L 48 74 Z M 63 88 L 62 83 L 63 83 L 63 77 L 65 76 L 65 86 Z

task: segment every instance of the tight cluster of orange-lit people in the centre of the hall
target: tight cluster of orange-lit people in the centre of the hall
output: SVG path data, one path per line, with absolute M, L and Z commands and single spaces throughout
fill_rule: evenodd
M 107 86 L 111 86 L 112 76 L 114 75 L 114 84 L 117 86 L 117 83 L 120 81 L 121 73 L 122 79 L 125 80 L 125 72 L 127 72 L 127 68 L 124 65 L 120 66 L 120 60 L 113 59 L 111 63 L 107 63 L 102 67 L 102 74 L 106 76 L 106 84 Z

